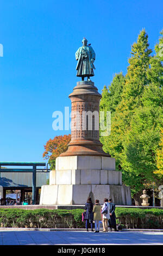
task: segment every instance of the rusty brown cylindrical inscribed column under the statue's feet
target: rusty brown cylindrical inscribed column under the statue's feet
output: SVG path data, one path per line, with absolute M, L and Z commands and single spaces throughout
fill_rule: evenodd
M 99 141 L 99 101 L 102 97 L 91 81 L 77 82 L 71 99 L 71 142 L 60 156 L 110 156 Z

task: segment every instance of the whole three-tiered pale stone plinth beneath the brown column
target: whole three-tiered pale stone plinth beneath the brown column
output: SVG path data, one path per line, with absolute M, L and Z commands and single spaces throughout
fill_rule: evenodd
M 85 204 L 87 197 L 103 204 L 111 196 L 116 205 L 131 205 L 130 187 L 122 186 L 115 159 L 103 156 L 66 156 L 56 159 L 49 185 L 41 187 L 40 204 Z

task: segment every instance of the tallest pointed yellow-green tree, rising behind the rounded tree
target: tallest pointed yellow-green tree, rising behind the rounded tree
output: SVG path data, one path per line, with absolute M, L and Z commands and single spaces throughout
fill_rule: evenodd
M 121 169 L 123 143 L 126 140 L 126 133 L 130 129 L 131 118 L 135 109 L 141 106 L 141 95 L 148 83 L 147 71 L 151 53 L 148 35 L 143 29 L 137 42 L 131 46 L 131 58 L 128 60 L 130 65 L 123 84 L 122 99 L 115 108 L 115 114 L 111 119 L 111 134 L 107 139 L 108 151 L 116 157 L 118 169 Z

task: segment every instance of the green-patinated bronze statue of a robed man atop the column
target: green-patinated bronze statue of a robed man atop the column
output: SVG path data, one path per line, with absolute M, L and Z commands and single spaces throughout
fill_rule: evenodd
M 90 76 L 95 76 L 93 69 L 95 66 L 93 62 L 95 61 L 96 54 L 93 51 L 93 48 L 90 45 L 87 45 L 87 40 L 84 38 L 82 40 L 83 46 L 79 47 L 76 52 L 76 60 L 78 60 L 77 64 L 77 76 L 82 77 L 82 81 L 84 81 L 84 77 L 87 77 L 87 81 L 90 80 Z

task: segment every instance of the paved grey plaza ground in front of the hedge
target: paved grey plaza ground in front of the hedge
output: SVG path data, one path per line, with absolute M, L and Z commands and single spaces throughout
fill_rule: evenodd
M 163 245 L 163 232 L 0 231 L 0 245 Z

